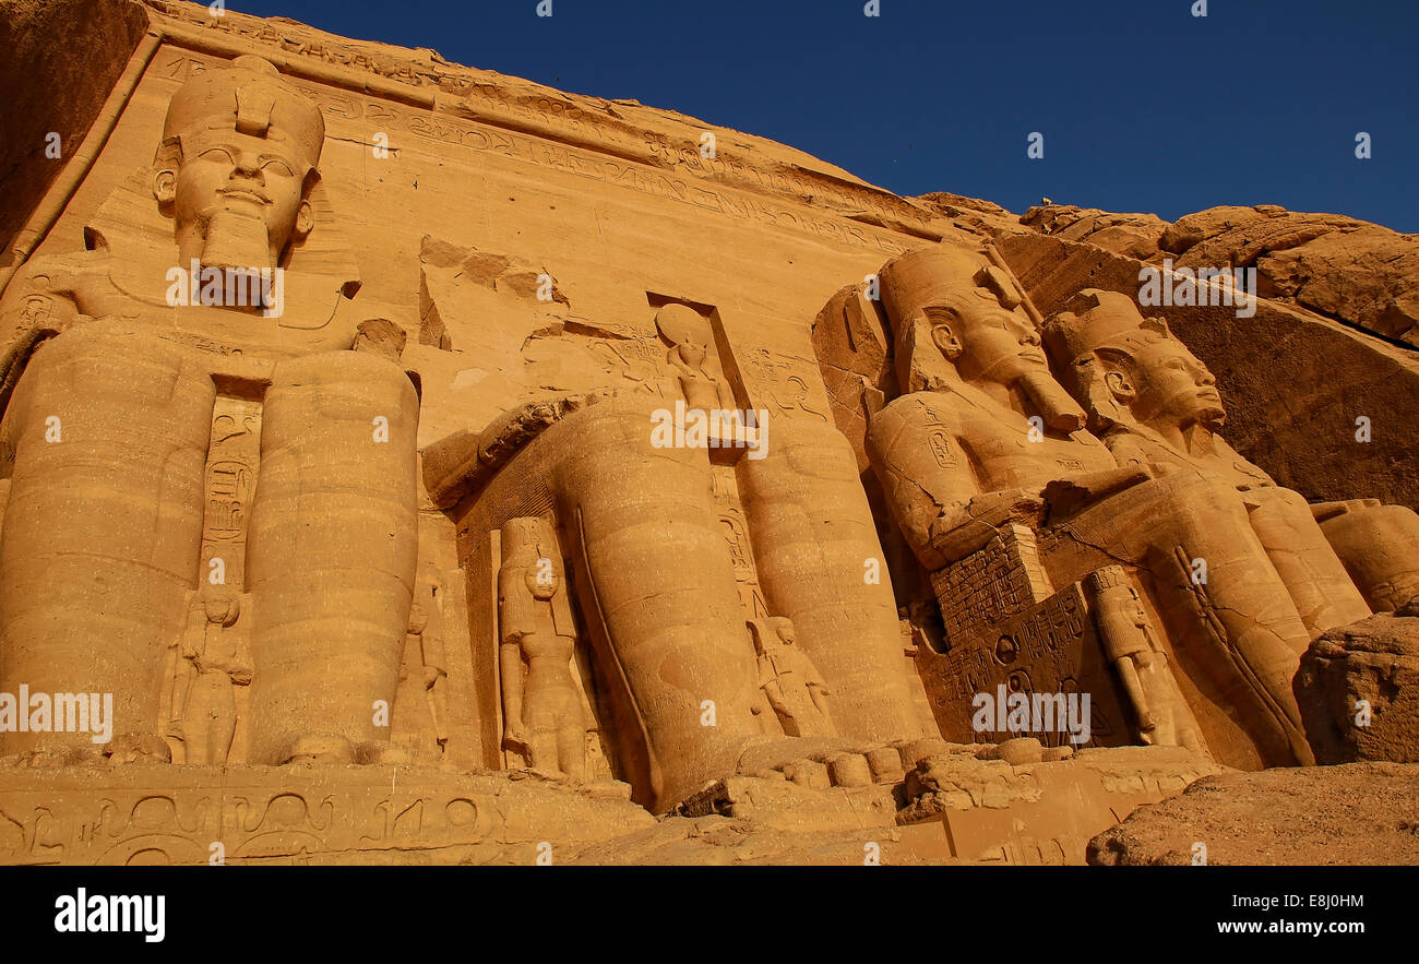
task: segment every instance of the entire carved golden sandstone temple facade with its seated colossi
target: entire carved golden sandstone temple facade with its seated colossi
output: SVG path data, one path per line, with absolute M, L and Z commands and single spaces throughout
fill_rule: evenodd
M 1412 687 L 1347 669 L 1408 672 L 1355 640 L 1416 584 L 1409 239 L 1016 219 L 96 10 L 150 33 L 55 95 L 72 139 L 111 91 L 102 150 L 16 182 L 0 271 L 3 859 L 1078 863 L 1311 762 L 1323 633 L 1315 700 L 1374 690 L 1355 752 L 1409 752 Z M 1166 257 L 1254 261 L 1254 317 L 1145 318 Z

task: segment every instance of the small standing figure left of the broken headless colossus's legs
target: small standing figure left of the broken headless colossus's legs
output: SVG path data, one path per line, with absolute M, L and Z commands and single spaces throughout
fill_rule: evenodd
M 555 541 L 539 518 L 502 527 L 498 572 L 504 750 L 528 765 L 580 781 L 586 713 L 572 672 L 576 630 Z

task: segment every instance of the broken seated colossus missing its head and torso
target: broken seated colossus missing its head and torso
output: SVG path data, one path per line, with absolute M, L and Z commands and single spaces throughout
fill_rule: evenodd
M 783 415 L 718 439 L 735 444 L 714 451 L 657 437 L 674 400 L 748 405 L 745 388 L 729 390 L 721 375 L 735 365 L 701 356 L 708 322 L 687 311 L 657 314 L 673 348 L 663 395 L 534 403 L 424 450 L 429 491 L 436 504 L 457 503 L 460 538 L 480 542 L 532 514 L 563 537 L 622 774 L 633 799 L 657 812 L 715 779 L 803 757 L 803 738 L 765 734 L 755 713 L 763 694 L 746 619 L 792 622 L 793 646 L 833 691 L 841 740 L 873 745 L 922 730 L 891 586 L 864 578 L 883 566 L 883 549 L 846 437 Z M 515 652 L 507 629 L 499 643 Z

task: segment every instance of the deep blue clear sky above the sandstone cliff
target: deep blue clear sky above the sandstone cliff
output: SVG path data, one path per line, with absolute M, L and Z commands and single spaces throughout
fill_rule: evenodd
M 758 133 L 900 195 L 1419 231 L 1419 0 L 228 0 Z M 1032 131 L 1044 158 L 1026 158 Z M 1372 158 L 1355 159 L 1355 133 Z

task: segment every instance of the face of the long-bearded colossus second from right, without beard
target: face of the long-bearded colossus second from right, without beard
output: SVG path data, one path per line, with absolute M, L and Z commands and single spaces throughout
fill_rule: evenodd
M 969 288 L 924 311 L 937 348 L 968 382 L 1010 385 L 1027 375 L 1049 375 L 1034 325 L 989 290 Z

